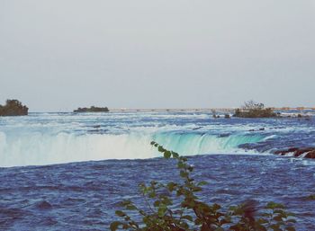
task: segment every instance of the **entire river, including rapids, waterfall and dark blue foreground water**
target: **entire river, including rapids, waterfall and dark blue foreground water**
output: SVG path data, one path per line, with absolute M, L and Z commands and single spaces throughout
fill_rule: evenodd
M 141 203 L 139 182 L 176 177 L 174 163 L 149 146 L 154 139 L 193 155 L 196 178 L 210 182 L 203 200 L 279 201 L 297 214 L 298 230 L 315 230 L 315 201 L 306 200 L 315 193 L 315 161 L 272 155 L 315 146 L 308 113 L 311 120 L 214 120 L 195 112 L 0 118 L 0 229 L 108 230 L 119 201 Z

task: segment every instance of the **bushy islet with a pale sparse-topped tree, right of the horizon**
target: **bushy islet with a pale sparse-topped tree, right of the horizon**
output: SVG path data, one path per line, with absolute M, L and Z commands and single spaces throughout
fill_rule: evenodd
M 277 114 L 271 108 L 265 108 L 264 103 L 248 101 L 241 108 L 238 108 L 234 114 L 241 118 L 270 118 Z

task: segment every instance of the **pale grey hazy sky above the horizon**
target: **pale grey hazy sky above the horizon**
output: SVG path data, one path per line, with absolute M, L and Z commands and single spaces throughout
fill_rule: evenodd
M 315 0 L 0 0 L 0 104 L 315 107 Z

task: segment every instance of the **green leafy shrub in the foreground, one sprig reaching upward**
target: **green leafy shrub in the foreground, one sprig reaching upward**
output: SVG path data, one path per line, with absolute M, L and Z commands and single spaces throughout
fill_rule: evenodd
M 121 202 L 122 210 L 116 215 L 120 220 L 113 221 L 111 230 L 136 231 L 293 231 L 295 220 L 284 210 L 284 206 L 269 202 L 257 216 L 257 202 L 248 200 L 242 205 L 222 209 L 219 204 L 207 204 L 198 198 L 198 192 L 207 182 L 196 182 L 191 173 L 193 166 L 187 158 L 152 141 L 151 145 L 163 153 L 165 158 L 177 161 L 181 182 L 150 182 L 139 184 L 139 190 L 146 209 L 135 205 L 130 200 Z M 176 206 L 176 204 L 179 205 Z M 128 214 L 132 210 L 141 220 Z M 131 212 L 131 211 L 130 211 Z

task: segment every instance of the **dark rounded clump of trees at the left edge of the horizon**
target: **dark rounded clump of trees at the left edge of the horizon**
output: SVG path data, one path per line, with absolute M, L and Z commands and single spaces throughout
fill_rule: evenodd
M 6 100 L 5 105 L 0 105 L 0 116 L 28 115 L 29 108 L 18 100 Z

